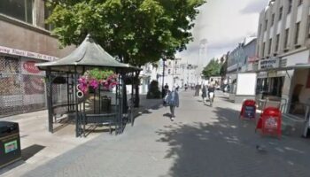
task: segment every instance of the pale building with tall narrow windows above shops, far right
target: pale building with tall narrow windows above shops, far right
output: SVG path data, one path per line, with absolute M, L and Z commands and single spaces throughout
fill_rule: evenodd
M 277 96 L 282 102 L 294 99 L 305 103 L 310 94 L 301 75 L 309 70 L 285 70 L 291 65 L 309 63 L 310 1 L 272 0 L 260 12 L 256 63 L 258 88 L 265 95 Z M 279 69 L 283 68 L 283 69 Z M 302 73 L 300 75 L 300 73 Z M 295 83 L 299 81 L 298 83 Z M 299 85 L 300 89 L 296 89 Z M 293 93 L 295 92 L 295 93 Z M 295 95 L 295 98 L 292 97 Z

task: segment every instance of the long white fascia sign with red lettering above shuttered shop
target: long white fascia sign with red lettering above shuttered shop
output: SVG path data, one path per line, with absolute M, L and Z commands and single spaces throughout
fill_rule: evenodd
M 53 57 L 53 56 L 48 56 L 40 53 L 35 53 L 31 51 L 26 51 L 26 50 L 17 50 L 17 49 L 12 49 L 4 46 L 0 46 L 0 53 L 5 53 L 5 54 L 11 54 L 11 55 L 17 55 L 17 56 L 22 56 L 22 57 L 27 57 L 27 58 L 37 58 L 37 59 L 43 59 L 46 61 L 54 61 L 58 58 Z

